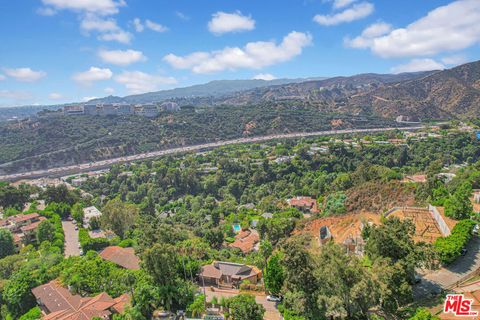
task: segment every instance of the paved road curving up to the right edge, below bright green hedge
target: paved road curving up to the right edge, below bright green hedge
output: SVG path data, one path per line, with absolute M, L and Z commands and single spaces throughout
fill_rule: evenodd
M 422 298 L 431 292 L 454 287 L 480 269 L 480 238 L 474 237 L 467 250 L 465 256 L 459 257 L 450 266 L 422 275 L 422 282 L 414 287 L 415 297 Z

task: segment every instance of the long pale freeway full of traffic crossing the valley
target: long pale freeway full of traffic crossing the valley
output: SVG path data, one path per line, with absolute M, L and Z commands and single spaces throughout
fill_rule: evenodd
M 77 164 L 77 165 L 3 175 L 3 176 L 0 176 L 0 181 L 17 181 L 17 180 L 29 179 L 29 178 L 59 177 L 63 175 L 78 174 L 82 172 L 105 169 L 114 164 L 119 164 L 119 163 L 127 163 L 127 162 L 144 160 L 144 159 L 158 158 L 158 157 L 170 155 L 170 154 L 195 152 L 195 151 L 218 148 L 218 147 L 232 145 L 232 144 L 255 143 L 255 142 L 263 142 L 263 141 L 276 140 L 276 139 L 328 136 L 328 135 L 345 134 L 345 133 L 369 133 L 369 132 L 383 132 L 383 131 L 392 131 L 392 130 L 409 131 L 409 130 L 418 130 L 423 128 L 425 128 L 425 126 L 418 125 L 418 126 L 411 126 L 411 127 L 388 127 L 388 128 L 371 128 L 371 129 L 345 129 L 345 130 L 330 130 L 330 131 L 315 131 L 315 132 L 297 132 L 297 133 L 275 134 L 275 135 L 269 135 L 269 136 L 258 136 L 258 137 L 250 137 L 250 138 L 238 138 L 238 139 L 232 139 L 232 140 L 205 143 L 200 145 L 192 145 L 192 146 L 152 151 L 147 153 L 140 153 L 140 154 L 135 154 L 130 156 L 123 156 L 119 158 L 112 158 L 112 159 Z

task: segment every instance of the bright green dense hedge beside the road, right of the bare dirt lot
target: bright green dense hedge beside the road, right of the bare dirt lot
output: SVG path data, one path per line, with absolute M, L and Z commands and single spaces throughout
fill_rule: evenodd
M 435 241 L 435 251 L 443 264 L 450 264 L 462 254 L 462 249 L 472 238 L 472 229 L 475 222 L 470 219 L 459 221 L 452 230 L 452 234 Z

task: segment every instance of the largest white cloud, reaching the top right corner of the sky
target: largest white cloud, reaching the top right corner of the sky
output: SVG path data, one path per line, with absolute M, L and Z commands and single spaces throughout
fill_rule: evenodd
M 432 56 L 480 42 L 480 1 L 460 0 L 430 11 L 405 28 L 376 37 L 368 46 L 383 58 Z

